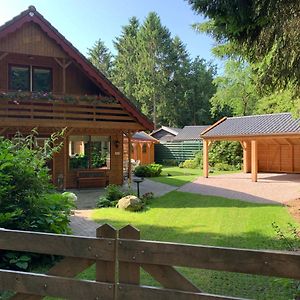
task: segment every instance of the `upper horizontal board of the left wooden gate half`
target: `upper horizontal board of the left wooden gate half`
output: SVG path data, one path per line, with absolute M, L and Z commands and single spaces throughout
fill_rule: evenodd
M 0 229 L 0 249 L 114 260 L 114 239 Z

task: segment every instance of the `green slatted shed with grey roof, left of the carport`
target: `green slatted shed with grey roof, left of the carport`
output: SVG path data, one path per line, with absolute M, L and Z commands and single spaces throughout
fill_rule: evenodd
M 202 150 L 202 140 L 199 140 L 199 136 L 206 128 L 207 126 L 185 126 L 172 141 L 160 140 L 160 143 L 155 145 L 155 161 L 168 164 L 194 158 L 195 153 Z

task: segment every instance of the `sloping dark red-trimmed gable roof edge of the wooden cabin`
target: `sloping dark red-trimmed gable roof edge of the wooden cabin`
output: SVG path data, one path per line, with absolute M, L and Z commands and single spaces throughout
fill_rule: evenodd
M 36 9 L 34 6 L 23 11 L 12 20 L 6 22 L 0 27 L 0 39 L 8 34 L 15 32 L 24 24 L 33 22 L 54 40 L 76 63 L 82 68 L 88 77 L 96 82 L 102 89 L 106 90 L 113 96 L 122 107 L 130 113 L 146 129 L 153 130 L 153 123 L 143 115 L 133 103 L 114 86 L 101 72 L 99 72 L 85 57 L 82 55 L 57 29 L 55 29 Z

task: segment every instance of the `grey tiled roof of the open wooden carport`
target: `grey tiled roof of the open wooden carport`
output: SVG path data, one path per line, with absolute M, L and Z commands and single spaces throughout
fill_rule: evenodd
M 273 134 L 300 134 L 300 119 L 294 119 L 290 113 L 254 115 L 223 118 L 201 136 L 234 137 Z

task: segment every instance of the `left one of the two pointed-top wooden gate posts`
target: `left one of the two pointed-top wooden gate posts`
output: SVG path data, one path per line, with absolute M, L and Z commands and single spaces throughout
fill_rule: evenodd
M 96 237 L 115 239 L 113 242 L 115 244 L 114 261 L 96 261 L 96 281 L 111 283 L 109 288 L 113 289 L 113 299 L 115 299 L 117 230 L 109 224 L 103 224 L 96 229 Z

